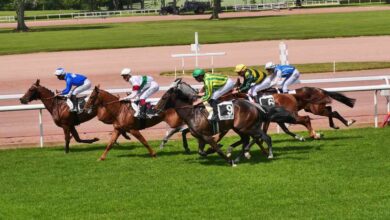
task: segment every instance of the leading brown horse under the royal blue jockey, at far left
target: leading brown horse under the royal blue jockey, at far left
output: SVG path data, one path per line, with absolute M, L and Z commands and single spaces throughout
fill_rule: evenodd
M 22 104 L 27 104 L 33 100 L 41 100 L 45 108 L 50 112 L 54 123 L 64 130 L 65 134 L 65 152 L 69 152 L 69 142 L 71 134 L 75 140 L 79 143 L 93 143 L 98 141 L 98 138 L 82 140 L 75 128 L 80 123 L 91 120 L 96 116 L 96 111 L 90 113 L 83 112 L 76 114 L 69 111 L 69 107 L 66 104 L 64 98 L 58 97 L 54 92 L 41 86 L 39 79 L 27 90 L 27 92 L 20 98 Z

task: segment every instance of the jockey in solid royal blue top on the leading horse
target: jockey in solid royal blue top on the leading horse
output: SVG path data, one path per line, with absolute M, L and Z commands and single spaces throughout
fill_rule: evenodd
M 71 112 L 77 111 L 77 95 L 91 88 L 91 82 L 86 76 L 75 73 L 66 73 L 64 68 L 57 68 L 54 72 L 59 80 L 66 81 L 66 88 L 59 95 L 67 96 L 73 103 Z M 72 86 L 75 86 L 72 89 Z

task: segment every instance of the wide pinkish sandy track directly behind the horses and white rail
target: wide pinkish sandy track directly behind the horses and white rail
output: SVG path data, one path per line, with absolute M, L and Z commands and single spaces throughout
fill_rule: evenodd
M 382 8 L 382 7 L 381 7 Z M 357 8 L 359 9 L 359 8 Z M 336 61 L 390 61 L 390 37 L 358 37 L 316 40 L 285 41 L 289 48 L 290 63 L 314 63 Z M 224 51 L 227 55 L 214 59 L 214 66 L 234 66 L 238 63 L 247 65 L 264 64 L 269 60 L 278 60 L 279 41 L 261 41 L 245 43 L 228 43 L 202 45 L 202 52 Z M 89 76 L 94 84 L 100 83 L 103 88 L 125 88 L 128 86 L 119 76 L 123 67 L 131 67 L 135 72 L 151 74 L 160 85 L 169 85 L 173 77 L 161 77 L 161 71 L 180 68 L 180 60 L 170 57 L 173 53 L 189 53 L 189 46 L 170 46 L 152 48 L 110 49 L 91 51 L 69 51 L 53 53 L 35 53 L 8 55 L 0 57 L 0 94 L 24 93 L 37 79 L 51 89 L 62 89 L 64 83 L 58 81 L 53 70 L 58 66 L 70 72 L 80 72 Z M 186 59 L 186 68 L 193 68 L 194 62 Z M 210 67 L 210 60 L 200 59 L 200 66 Z M 303 75 L 302 79 L 331 78 L 346 76 L 389 75 L 390 70 L 337 72 Z M 191 78 L 185 78 L 195 84 Z M 360 82 L 348 84 L 316 84 L 319 87 L 339 87 L 350 85 L 374 85 L 383 82 Z M 161 93 L 159 93 L 161 95 Z M 159 96 L 157 95 L 157 96 Z M 334 103 L 334 108 L 347 118 L 355 118 L 360 125 L 373 122 L 372 92 L 347 94 L 358 99 L 356 107 L 349 109 Z M 156 97 L 157 97 L 156 96 Z M 379 113 L 385 114 L 385 100 L 379 99 Z M 0 101 L 0 105 L 18 105 L 17 100 Z M 306 114 L 306 113 L 303 113 Z M 39 142 L 38 111 L 0 113 L 0 147 L 37 145 Z M 327 120 L 313 116 L 315 128 L 326 128 Z M 380 120 L 382 117 L 379 118 Z M 44 132 L 46 143 L 61 143 L 62 129 L 56 127 L 48 112 L 44 112 Z M 338 122 L 337 122 L 338 123 Z M 338 123 L 339 124 L 339 123 Z M 165 133 L 165 124 L 159 124 L 143 132 L 148 139 L 160 139 Z M 342 126 L 341 126 L 342 127 Z M 302 130 L 293 126 L 293 130 Z M 78 127 L 82 137 L 98 136 L 103 142 L 108 140 L 111 126 L 103 125 L 96 118 Z M 71 142 L 73 143 L 73 142 Z

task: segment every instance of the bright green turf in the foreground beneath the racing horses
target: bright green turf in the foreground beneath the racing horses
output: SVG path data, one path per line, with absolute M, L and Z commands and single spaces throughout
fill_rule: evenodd
M 389 219 L 389 132 L 273 135 L 275 159 L 253 147 L 236 168 L 200 158 L 193 140 L 190 155 L 169 142 L 151 159 L 133 142 L 104 162 L 102 145 L 3 150 L 0 219 Z

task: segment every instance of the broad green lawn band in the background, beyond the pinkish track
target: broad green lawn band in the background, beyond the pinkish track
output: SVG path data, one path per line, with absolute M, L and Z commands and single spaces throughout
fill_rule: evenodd
M 388 11 L 0 30 L 0 54 L 390 34 Z

